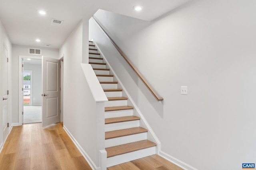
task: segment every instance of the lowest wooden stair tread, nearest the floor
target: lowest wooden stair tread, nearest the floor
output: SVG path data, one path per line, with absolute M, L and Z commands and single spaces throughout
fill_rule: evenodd
M 156 143 L 153 143 L 148 140 L 143 140 L 143 141 L 138 141 L 138 142 L 133 142 L 133 143 L 127 143 L 124 145 L 118 145 L 115 147 L 109 147 L 109 148 L 106 148 L 107 158 L 112 157 L 112 156 L 117 156 L 120 154 L 133 152 L 136 150 L 155 147 L 155 146 L 156 146 Z

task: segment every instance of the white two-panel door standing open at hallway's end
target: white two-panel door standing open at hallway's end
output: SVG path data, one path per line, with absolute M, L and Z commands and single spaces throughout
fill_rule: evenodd
M 42 127 L 60 122 L 60 60 L 42 57 Z

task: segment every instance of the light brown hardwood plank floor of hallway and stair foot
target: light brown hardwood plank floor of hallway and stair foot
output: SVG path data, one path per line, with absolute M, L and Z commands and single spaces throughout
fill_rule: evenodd
M 92 170 L 63 129 L 63 123 L 14 126 L 0 153 L 0 170 Z M 158 155 L 107 170 L 182 170 Z

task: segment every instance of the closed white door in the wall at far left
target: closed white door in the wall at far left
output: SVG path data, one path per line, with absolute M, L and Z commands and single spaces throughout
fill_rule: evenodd
M 8 50 L 3 46 L 2 55 L 2 121 L 3 121 L 3 139 L 8 136 Z

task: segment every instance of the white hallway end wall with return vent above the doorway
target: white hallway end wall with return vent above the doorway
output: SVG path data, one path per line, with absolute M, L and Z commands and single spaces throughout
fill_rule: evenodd
M 36 48 L 41 49 L 41 55 L 30 55 L 28 53 L 28 48 Z M 13 92 L 13 100 L 12 105 L 17 106 L 13 107 L 12 111 L 12 120 L 13 123 L 19 122 L 19 97 L 18 97 L 18 84 L 19 84 L 19 56 L 46 56 L 58 59 L 59 52 L 58 49 L 51 49 L 51 48 L 38 48 L 38 47 L 31 47 L 31 46 L 24 46 L 24 45 L 12 45 L 12 92 Z

